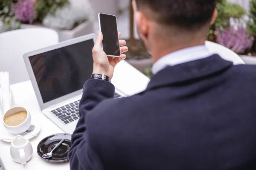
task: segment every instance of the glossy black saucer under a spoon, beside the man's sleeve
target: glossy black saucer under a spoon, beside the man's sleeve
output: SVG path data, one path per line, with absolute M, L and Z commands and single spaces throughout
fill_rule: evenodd
M 49 153 L 55 147 L 61 139 L 65 139 L 64 142 L 52 152 L 52 157 L 45 159 L 42 157 L 44 153 Z M 41 142 L 39 142 L 37 147 L 38 155 L 46 160 L 51 162 L 63 162 L 68 161 L 67 153 L 71 147 L 71 135 L 68 133 L 58 133 L 54 135 L 47 136 Z

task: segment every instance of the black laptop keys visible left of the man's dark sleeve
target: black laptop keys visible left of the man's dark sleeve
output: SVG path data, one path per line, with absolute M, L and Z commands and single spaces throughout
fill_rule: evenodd
M 58 119 L 61 120 L 61 122 L 64 122 L 64 124 L 68 124 L 70 122 L 73 122 L 77 119 L 79 119 L 79 102 L 80 100 L 77 100 L 76 102 L 71 102 L 68 105 L 61 106 L 60 108 L 56 108 L 55 110 L 52 110 L 51 112 L 58 117 Z

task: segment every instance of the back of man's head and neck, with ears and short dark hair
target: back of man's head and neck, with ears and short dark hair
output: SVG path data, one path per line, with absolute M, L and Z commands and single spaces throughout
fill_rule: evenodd
M 182 48 L 203 45 L 217 16 L 218 0 L 133 0 L 135 22 L 153 61 Z

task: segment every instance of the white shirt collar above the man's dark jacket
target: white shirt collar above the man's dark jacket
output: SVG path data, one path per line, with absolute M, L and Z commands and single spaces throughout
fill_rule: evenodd
M 212 54 L 205 45 L 183 48 L 158 59 L 152 67 L 152 73 L 157 74 L 159 71 L 168 66 L 174 66 L 185 62 L 207 58 L 211 55 Z

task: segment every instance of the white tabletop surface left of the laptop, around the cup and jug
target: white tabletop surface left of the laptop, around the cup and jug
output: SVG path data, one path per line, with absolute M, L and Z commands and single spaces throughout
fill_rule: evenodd
M 41 112 L 31 82 L 26 81 L 11 85 L 11 89 L 15 96 L 16 105 L 27 108 L 31 113 L 32 119 L 39 120 L 37 122 L 41 123 L 41 131 L 38 133 L 38 136 L 29 140 L 33 147 L 33 156 L 25 165 L 12 160 L 10 155 L 10 143 L 0 141 L 0 163 L 3 170 L 47 170 L 47 168 L 69 170 L 68 161 L 64 163 L 52 163 L 44 161 L 44 159 L 38 156 L 36 148 L 42 139 L 55 133 L 64 133 L 64 131 Z

